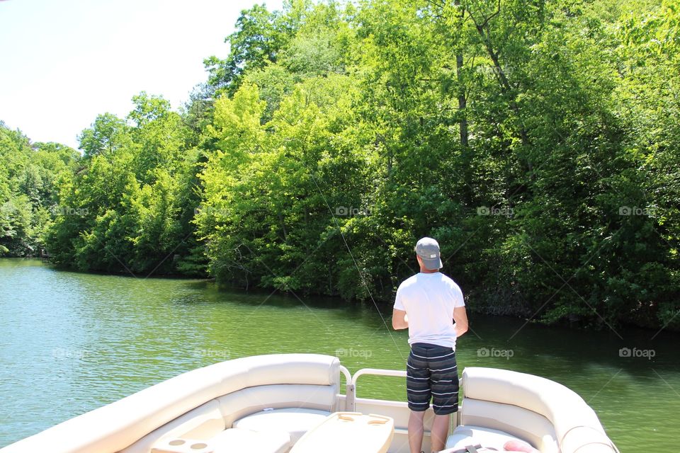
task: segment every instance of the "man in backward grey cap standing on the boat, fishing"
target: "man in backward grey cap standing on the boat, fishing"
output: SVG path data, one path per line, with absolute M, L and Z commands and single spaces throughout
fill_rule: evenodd
M 399 285 L 392 327 L 409 329 L 406 387 L 411 453 L 421 452 L 423 418 L 430 400 L 435 413 L 431 447 L 438 452 L 446 445 L 450 414 L 458 411 L 455 339 L 467 331 L 467 314 L 460 287 L 439 272 L 443 265 L 437 241 L 425 237 L 416 243 L 415 252 L 420 273 Z

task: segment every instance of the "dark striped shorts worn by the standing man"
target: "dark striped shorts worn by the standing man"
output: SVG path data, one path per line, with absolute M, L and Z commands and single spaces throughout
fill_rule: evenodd
M 437 415 L 458 411 L 458 366 L 455 351 L 438 345 L 414 343 L 406 364 L 406 394 L 409 409 Z

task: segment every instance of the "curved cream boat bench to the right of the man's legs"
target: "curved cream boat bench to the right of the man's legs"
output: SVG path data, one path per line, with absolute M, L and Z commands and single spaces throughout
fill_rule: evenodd
M 576 392 L 543 377 L 466 367 L 458 426 L 442 453 L 467 445 L 503 451 L 523 440 L 541 453 L 616 452 L 595 412 Z

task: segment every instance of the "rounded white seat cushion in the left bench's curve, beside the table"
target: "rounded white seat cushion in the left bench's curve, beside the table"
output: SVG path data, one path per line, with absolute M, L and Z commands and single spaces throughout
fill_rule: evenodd
M 295 444 L 305 432 L 322 423 L 330 415 L 328 411 L 315 409 L 285 408 L 261 411 L 234 422 L 234 428 L 259 432 L 283 430 Z

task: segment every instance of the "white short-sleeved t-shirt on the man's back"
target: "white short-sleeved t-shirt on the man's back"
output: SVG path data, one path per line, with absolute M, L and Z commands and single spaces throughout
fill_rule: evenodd
M 455 350 L 453 309 L 465 306 L 460 287 L 446 275 L 417 273 L 397 289 L 395 309 L 409 317 L 409 345 L 430 343 Z

